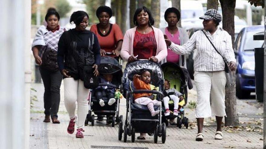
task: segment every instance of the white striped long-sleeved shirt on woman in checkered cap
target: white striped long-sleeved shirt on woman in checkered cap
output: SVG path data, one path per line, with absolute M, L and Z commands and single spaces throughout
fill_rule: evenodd
M 236 62 L 231 36 L 225 30 L 219 28 L 213 35 L 206 30 L 204 30 L 204 32 L 217 51 L 219 51 L 228 62 Z M 194 59 L 194 71 L 224 70 L 225 64 L 221 55 L 216 52 L 201 30 L 195 32 L 184 45 L 180 46 L 172 42 L 169 48 L 181 55 L 189 54 L 192 50 L 197 49 L 197 54 Z

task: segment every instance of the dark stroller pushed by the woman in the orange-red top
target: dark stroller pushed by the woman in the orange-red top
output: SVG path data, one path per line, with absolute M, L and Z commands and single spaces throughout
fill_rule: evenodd
M 107 83 L 99 83 L 99 86 L 111 86 L 113 88 L 120 88 L 121 86 L 121 78 L 122 78 L 122 66 L 119 64 L 117 60 L 112 57 L 101 57 L 101 63 L 98 67 L 99 74 L 112 74 L 112 84 Z M 122 120 L 122 115 L 119 116 L 119 103 L 120 98 L 115 96 L 115 103 L 112 105 L 108 105 L 108 98 L 102 97 L 102 100 L 105 103 L 105 106 L 101 107 L 99 104 L 99 99 L 96 98 L 95 89 L 91 90 L 89 95 L 89 113 L 86 116 L 85 125 L 88 125 L 88 122 L 91 122 L 91 125 L 94 126 L 94 120 L 96 117 L 103 117 L 106 121 L 112 121 L 112 127 L 115 126 L 115 122 L 118 123 Z M 92 112 L 95 115 L 92 115 Z M 112 117 L 112 120 L 109 119 Z

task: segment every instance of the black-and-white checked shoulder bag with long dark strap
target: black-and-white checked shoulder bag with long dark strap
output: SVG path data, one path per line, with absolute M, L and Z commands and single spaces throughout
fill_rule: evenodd
M 207 39 L 209 40 L 209 42 L 212 44 L 212 42 L 210 41 L 210 39 L 208 38 L 208 36 L 206 35 L 206 33 L 203 31 L 203 29 L 201 30 L 204 35 L 207 37 Z M 212 44 L 213 48 L 215 49 L 215 51 L 220 54 L 217 49 L 215 48 L 215 46 Z M 220 54 L 221 55 L 221 54 Z M 229 68 L 229 62 L 225 59 L 225 57 L 223 57 L 221 55 L 224 63 L 225 63 L 225 76 L 226 76 L 226 85 L 225 87 L 233 87 L 235 84 L 235 77 L 233 76 L 233 73 L 231 71 L 231 69 Z

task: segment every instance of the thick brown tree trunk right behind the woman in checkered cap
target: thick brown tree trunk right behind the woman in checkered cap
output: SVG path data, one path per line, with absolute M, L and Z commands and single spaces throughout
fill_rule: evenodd
M 222 6 L 222 27 L 232 38 L 234 47 L 235 41 L 235 0 L 220 0 Z M 225 17 L 226 16 L 226 17 Z M 225 126 L 239 126 L 237 104 L 235 97 L 235 85 L 232 88 L 225 88 Z

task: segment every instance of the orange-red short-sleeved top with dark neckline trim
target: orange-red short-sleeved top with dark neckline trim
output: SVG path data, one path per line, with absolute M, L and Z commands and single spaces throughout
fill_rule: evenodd
M 110 29 L 105 35 L 100 32 L 98 24 L 93 24 L 90 28 L 90 31 L 96 34 L 101 49 L 110 53 L 115 50 L 118 41 L 123 40 L 124 38 L 123 33 L 117 24 L 110 23 Z M 107 56 L 116 57 L 114 54 Z

